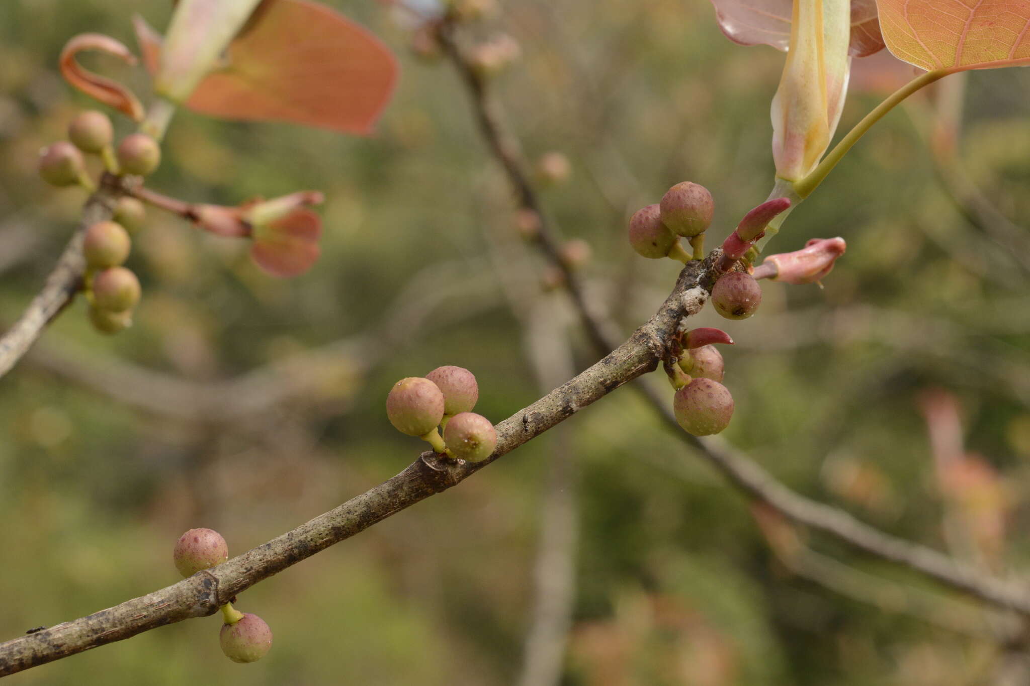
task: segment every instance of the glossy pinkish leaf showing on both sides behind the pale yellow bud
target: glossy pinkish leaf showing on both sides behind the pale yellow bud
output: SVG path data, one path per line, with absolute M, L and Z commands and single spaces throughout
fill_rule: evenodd
M 793 0 L 712 0 L 712 4 L 719 28 L 733 42 L 787 49 Z M 852 0 L 850 55 L 864 58 L 883 46 L 876 0 Z

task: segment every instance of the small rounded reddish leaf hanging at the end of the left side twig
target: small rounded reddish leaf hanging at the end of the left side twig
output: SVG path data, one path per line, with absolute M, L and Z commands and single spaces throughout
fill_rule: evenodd
M 311 210 L 295 210 L 267 226 L 255 226 L 250 256 L 273 277 L 297 277 L 318 259 L 321 219 Z

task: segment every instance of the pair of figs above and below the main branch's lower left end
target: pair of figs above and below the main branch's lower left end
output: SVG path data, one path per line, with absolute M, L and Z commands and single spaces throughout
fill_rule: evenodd
M 191 577 L 229 559 L 229 545 L 216 531 L 191 529 L 175 542 L 172 559 L 183 577 Z M 272 648 L 272 629 L 265 620 L 255 614 L 240 612 L 232 603 L 226 603 L 220 609 L 222 624 L 218 643 L 226 657 L 234 662 L 253 662 L 264 657 Z

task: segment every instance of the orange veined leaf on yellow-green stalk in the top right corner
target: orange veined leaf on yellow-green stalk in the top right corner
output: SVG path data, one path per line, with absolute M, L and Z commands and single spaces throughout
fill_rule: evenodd
M 887 47 L 927 71 L 1030 64 L 1030 0 L 878 0 Z

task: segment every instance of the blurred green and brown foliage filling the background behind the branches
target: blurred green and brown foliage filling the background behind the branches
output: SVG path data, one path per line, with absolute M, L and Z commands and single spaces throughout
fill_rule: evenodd
M 136 326 L 104 337 L 75 302 L 0 382 L 3 638 L 173 583 L 171 548 L 186 529 L 217 529 L 242 552 L 391 476 L 422 449 L 383 412 L 399 377 L 466 366 L 479 378 L 477 411 L 494 422 L 515 412 L 541 393 L 526 308 L 543 302 L 573 332 L 577 367 L 596 359 L 562 296 L 538 287 L 544 265 L 518 240 L 452 70 L 416 58 L 382 5 L 329 4 L 402 62 L 375 136 L 182 112 L 152 177 L 164 192 L 230 205 L 323 190 L 316 266 L 268 278 L 245 246 L 151 211 L 129 262 L 144 285 Z M 134 8 L 158 27 L 170 11 Z M 82 201 L 35 175 L 39 148 L 92 106 L 63 84 L 57 56 L 87 31 L 134 44 L 129 20 L 115 0 L 0 3 L 3 321 L 40 287 Z M 626 218 L 693 180 L 716 197 L 714 243 L 765 197 L 782 57 L 731 44 L 702 0 L 505 2 L 469 31 L 469 44 L 501 31 L 520 43 L 522 60 L 495 84 L 507 121 L 529 159 L 560 150 L 571 160 L 569 181 L 545 193 L 548 213 L 589 243 L 591 294 L 629 331 L 677 269 L 628 249 Z M 145 88 L 138 72 L 91 64 Z M 968 179 L 1022 226 L 1028 93 L 1026 70 L 973 73 L 957 148 Z M 874 103 L 853 94 L 842 131 Z M 924 100 L 877 127 L 772 244 L 847 239 L 824 289 L 764 283 L 753 319 L 706 312 L 697 323 L 739 341 L 724 353 L 731 442 L 806 495 L 960 556 L 989 548 L 980 564 L 1019 573 L 1030 565 L 1019 535 L 1030 514 L 1027 255 L 958 211 L 921 134 L 930 110 Z M 935 473 L 921 409 L 934 388 L 961 408 L 980 456 L 951 481 Z M 811 545 L 847 564 L 839 578 L 872 575 L 861 578 L 873 597 L 885 584 L 902 597 L 937 591 L 775 517 L 760 528 L 630 390 L 568 424 L 563 440 L 535 440 L 247 591 L 238 607 L 275 633 L 256 664 L 219 653 L 212 617 L 11 683 L 514 683 L 558 459 L 577 465 L 568 485 L 580 530 L 563 684 L 1026 683 L 1003 681 L 1024 659 L 1018 647 L 966 635 L 984 620 L 973 606 L 931 601 L 956 628 L 798 573 L 789 550 Z M 949 535 L 956 518 L 971 550 Z

